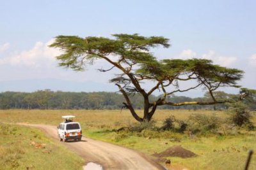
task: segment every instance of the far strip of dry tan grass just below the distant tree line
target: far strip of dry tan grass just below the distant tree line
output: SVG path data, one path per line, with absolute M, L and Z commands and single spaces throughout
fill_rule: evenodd
M 143 115 L 141 110 L 137 110 L 137 113 Z M 159 123 L 170 115 L 185 120 L 192 113 L 214 113 L 222 118 L 227 117 L 224 111 L 157 110 L 153 118 Z M 86 127 L 118 128 L 136 122 L 128 110 L 122 112 L 120 110 L 0 110 L 0 122 L 58 125 L 62 121 L 61 116 L 63 115 L 75 115 L 76 120 Z

